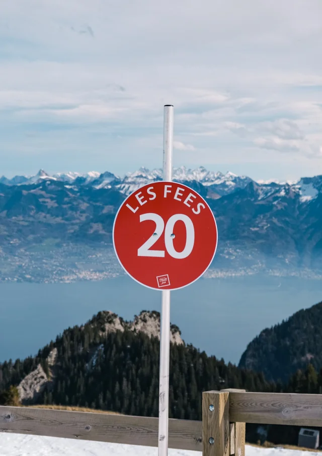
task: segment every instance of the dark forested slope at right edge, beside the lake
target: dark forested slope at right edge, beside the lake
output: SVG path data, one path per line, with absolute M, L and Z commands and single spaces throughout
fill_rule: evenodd
M 239 367 L 285 383 L 308 363 L 318 371 L 322 367 L 322 302 L 262 331 L 248 345 Z

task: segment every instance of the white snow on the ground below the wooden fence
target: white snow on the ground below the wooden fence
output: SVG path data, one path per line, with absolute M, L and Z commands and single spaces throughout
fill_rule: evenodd
M 246 456 L 317 456 L 314 451 L 246 445 Z M 157 456 L 157 448 L 56 437 L 0 433 L 1 456 Z M 200 451 L 169 449 L 169 456 L 201 456 Z

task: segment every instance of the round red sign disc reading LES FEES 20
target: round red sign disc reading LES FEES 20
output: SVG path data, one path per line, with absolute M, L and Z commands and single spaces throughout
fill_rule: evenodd
M 177 182 L 154 182 L 119 208 L 113 244 L 132 279 L 157 290 L 176 290 L 199 279 L 217 247 L 216 221 L 205 200 Z

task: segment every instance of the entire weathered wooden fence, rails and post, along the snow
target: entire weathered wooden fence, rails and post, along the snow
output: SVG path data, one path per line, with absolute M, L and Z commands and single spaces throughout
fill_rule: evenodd
M 245 423 L 322 426 L 322 395 L 240 389 L 203 393 L 202 422 L 169 420 L 169 447 L 202 451 L 203 456 L 244 456 Z M 157 446 L 158 419 L 0 407 L 0 432 Z

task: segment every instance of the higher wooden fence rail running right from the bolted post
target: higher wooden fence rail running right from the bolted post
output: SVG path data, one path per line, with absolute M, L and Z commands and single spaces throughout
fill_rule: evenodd
M 230 421 L 322 426 L 322 395 L 229 393 Z

